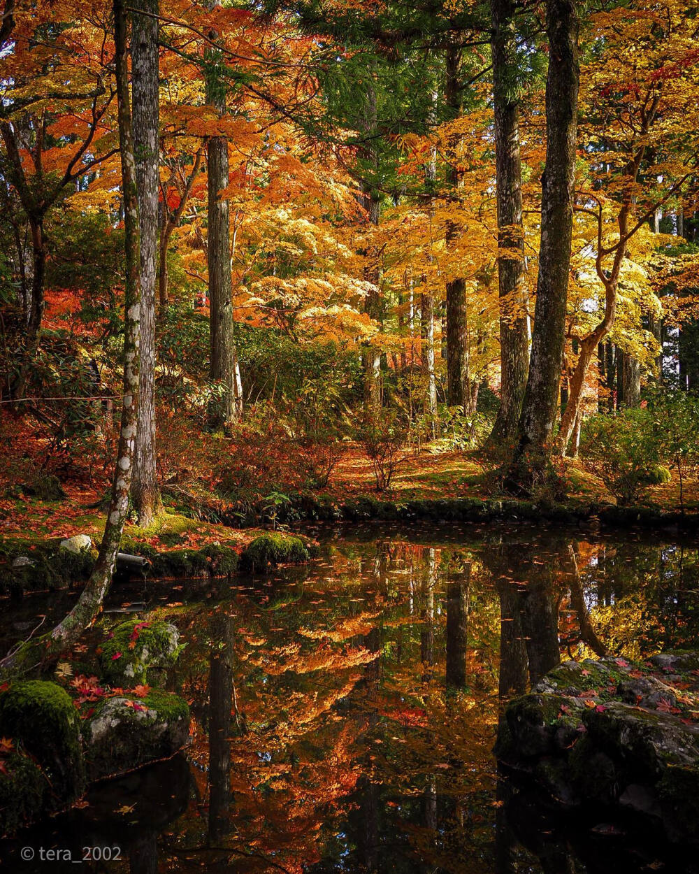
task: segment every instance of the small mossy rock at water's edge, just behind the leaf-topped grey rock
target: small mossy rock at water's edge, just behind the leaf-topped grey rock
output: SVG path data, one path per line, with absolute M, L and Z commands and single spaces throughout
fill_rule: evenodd
M 169 622 L 129 620 L 109 633 L 100 652 L 101 676 L 113 686 L 145 683 L 149 669 L 167 668 L 182 647 Z

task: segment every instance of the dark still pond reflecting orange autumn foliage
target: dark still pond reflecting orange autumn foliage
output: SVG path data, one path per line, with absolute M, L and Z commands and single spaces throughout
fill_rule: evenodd
M 696 871 L 661 836 L 567 815 L 498 773 L 502 703 L 560 657 L 699 640 L 696 544 L 534 527 L 312 531 L 322 558 L 247 580 L 116 586 L 186 648 L 175 759 L 7 842 L 7 871 Z M 3 611 L 3 645 L 69 595 Z M 105 851 L 107 848 L 107 851 Z M 38 854 L 38 850 L 37 850 Z M 93 854 L 94 856 L 94 854 Z

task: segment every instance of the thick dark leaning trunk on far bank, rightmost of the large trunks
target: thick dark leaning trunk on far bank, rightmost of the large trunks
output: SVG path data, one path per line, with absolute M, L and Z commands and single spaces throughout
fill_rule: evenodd
M 546 163 L 542 178 L 541 245 L 529 377 L 513 468 L 526 490 L 532 462 L 550 452 L 565 341 L 571 265 L 575 146 L 578 130 L 578 16 L 575 0 L 547 0 Z M 537 457 L 538 456 L 538 457 Z

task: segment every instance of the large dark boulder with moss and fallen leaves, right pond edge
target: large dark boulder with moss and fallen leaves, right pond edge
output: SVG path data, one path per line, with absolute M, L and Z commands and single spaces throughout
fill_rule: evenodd
M 632 812 L 699 844 L 696 664 L 689 652 L 564 662 L 509 702 L 495 753 L 558 802 Z

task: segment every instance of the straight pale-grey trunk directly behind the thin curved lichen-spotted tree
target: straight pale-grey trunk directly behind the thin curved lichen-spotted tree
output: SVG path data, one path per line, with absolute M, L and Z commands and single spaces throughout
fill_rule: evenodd
M 132 8 L 134 156 L 141 227 L 141 366 L 131 497 L 138 524 L 146 527 L 163 509 L 156 477 L 156 253 L 160 184 L 158 0 L 134 0 Z

